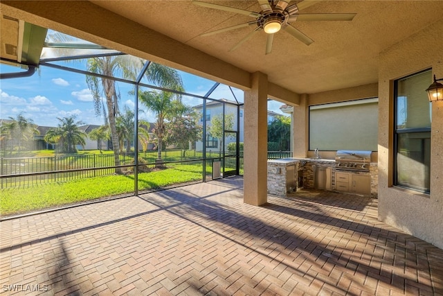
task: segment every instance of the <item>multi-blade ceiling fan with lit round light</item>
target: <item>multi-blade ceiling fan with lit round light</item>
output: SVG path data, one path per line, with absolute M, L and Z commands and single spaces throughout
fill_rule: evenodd
M 307 37 L 307 35 L 300 32 L 297 28 L 291 26 L 294 21 L 352 21 L 356 13 L 308 13 L 299 14 L 298 12 L 304 8 L 307 8 L 320 1 L 318 0 L 305 0 L 299 1 L 291 6 L 289 2 L 291 0 L 257 0 L 262 9 L 260 12 L 253 12 L 248 10 L 242 10 L 239 8 L 233 8 L 229 6 L 222 6 L 214 3 L 208 3 L 203 1 L 192 1 L 195 5 L 204 6 L 207 8 L 213 8 L 218 10 L 224 10 L 228 12 L 238 13 L 240 15 L 247 15 L 252 17 L 253 21 L 248 21 L 244 24 L 239 24 L 236 26 L 230 26 L 228 28 L 222 28 L 216 31 L 201 34 L 200 36 L 209 36 L 217 33 L 227 32 L 235 30 L 237 28 L 244 28 L 248 26 L 255 26 L 251 33 L 248 33 L 246 37 L 240 40 L 235 46 L 233 46 L 230 51 L 235 51 L 240 45 L 242 45 L 247 40 L 251 39 L 257 31 L 263 30 L 267 33 L 266 39 L 266 55 L 272 51 L 272 43 L 274 34 L 283 29 L 287 33 L 293 35 L 301 42 L 306 45 L 311 44 L 314 40 Z

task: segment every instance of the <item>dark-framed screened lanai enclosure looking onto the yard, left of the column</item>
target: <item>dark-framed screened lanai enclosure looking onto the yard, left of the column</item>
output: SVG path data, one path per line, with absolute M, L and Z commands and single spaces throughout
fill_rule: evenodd
M 22 26 L 0 66 L 3 216 L 243 174 L 242 90 Z

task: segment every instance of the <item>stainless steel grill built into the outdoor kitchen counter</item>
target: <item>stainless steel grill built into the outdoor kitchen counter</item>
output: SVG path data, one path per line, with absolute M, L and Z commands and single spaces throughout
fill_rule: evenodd
M 336 170 L 368 172 L 371 151 L 338 150 L 335 156 Z

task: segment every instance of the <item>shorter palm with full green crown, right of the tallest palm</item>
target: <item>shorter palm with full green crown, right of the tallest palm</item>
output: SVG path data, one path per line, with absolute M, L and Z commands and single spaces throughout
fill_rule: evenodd
M 163 137 L 165 137 L 165 121 L 186 112 L 186 106 L 181 103 L 181 96 L 173 92 L 140 92 L 140 101 L 156 114 L 154 134 L 157 136 L 157 161 L 161 162 Z

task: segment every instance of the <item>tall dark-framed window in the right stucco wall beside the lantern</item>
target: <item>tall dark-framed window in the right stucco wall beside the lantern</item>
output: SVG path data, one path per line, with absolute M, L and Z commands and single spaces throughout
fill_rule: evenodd
M 431 103 L 426 89 L 431 70 L 395 80 L 394 184 L 430 192 Z

